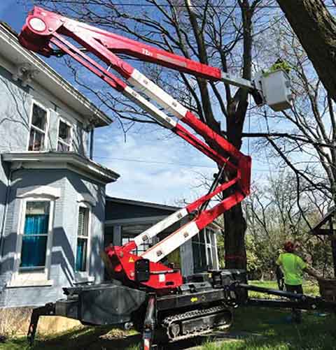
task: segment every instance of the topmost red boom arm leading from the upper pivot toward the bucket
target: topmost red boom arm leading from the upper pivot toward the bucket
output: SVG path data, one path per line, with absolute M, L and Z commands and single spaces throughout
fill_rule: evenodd
M 41 27 L 41 30 L 37 30 L 36 25 L 34 26 L 34 23 L 31 23 L 31 20 L 34 20 L 35 18 L 41 19 L 45 23 L 45 26 Z M 75 27 L 76 31 L 73 30 Z M 201 64 L 200 62 L 186 59 L 185 57 L 181 57 L 177 54 L 172 54 L 171 52 L 153 48 L 153 46 L 139 43 L 138 41 L 133 41 L 123 36 L 118 36 L 117 34 L 110 33 L 109 31 L 104 31 L 102 29 L 71 20 L 63 17 L 62 15 L 58 15 L 57 13 L 52 13 L 44 10 L 43 8 L 38 8 L 37 6 L 27 17 L 26 24 L 22 28 L 22 33 L 20 35 L 20 43 L 31 51 L 38 52 L 46 57 L 50 57 L 53 50 L 50 48 L 49 41 L 51 36 L 56 32 L 70 36 L 75 40 L 80 38 L 80 40 L 83 41 L 80 42 L 80 44 L 85 48 L 87 47 L 87 38 L 90 36 L 96 41 L 102 43 L 102 45 L 104 45 L 104 47 L 111 52 L 129 54 L 130 56 L 137 57 L 142 61 L 148 61 L 155 64 L 160 64 L 161 66 L 166 66 L 168 68 L 174 68 L 183 73 L 190 73 L 201 78 L 215 81 L 221 80 L 221 70 L 216 67 L 207 66 L 206 64 Z M 84 34 L 84 37 L 82 34 Z M 87 47 L 87 50 L 92 52 L 90 46 Z M 103 59 L 104 61 L 106 60 L 106 57 L 102 54 L 102 52 L 98 51 L 97 54 L 99 55 L 99 58 Z M 120 60 L 120 62 L 123 61 Z M 125 64 L 125 62 L 123 63 Z

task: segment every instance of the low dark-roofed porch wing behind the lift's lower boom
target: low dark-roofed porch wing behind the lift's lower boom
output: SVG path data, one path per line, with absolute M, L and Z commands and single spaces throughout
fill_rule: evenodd
M 179 209 L 179 207 L 169 205 L 106 196 L 105 246 L 124 245 L 139 233 Z M 162 240 L 179 227 L 175 224 L 167 228 L 158 239 Z M 221 227 L 217 224 L 209 225 L 179 249 L 169 254 L 168 261 L 174 262 L 176 267 L 181 268 L 183 276 L 208 269 L 218 269 L 216 234 L 219 231 Z M 149 242 L 149 244 L 153 245 L 156 242 L 158 240 Z M 137 249 L 136 253 L 141 254 L 148 247 L 148 244 L 144 244 Z

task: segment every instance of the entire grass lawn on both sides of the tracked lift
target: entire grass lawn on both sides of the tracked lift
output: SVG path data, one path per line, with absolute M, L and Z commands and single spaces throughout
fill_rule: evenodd
M 275 282 L 253 281 L 250 284 L 276 289 Z M 307 283 L 304 293 L 316 295 L 318 288 Z M 257 293 L 251 292 L 250 296 L 255 298 Z M 241 340 L 214 342 L 203 337 L 193 343 L 200 345 L 202 350 L 336 349 L 336 319 L 333 314 L 323 316 L 318 312 L 303 312 L 303 323 L 300 325 L 286 323 L 289 314 L 289 310 L 239 307 L 235 309 L 235 321 L 230 333 L 244 335 Z M 135 350 L 139 349 L 140 339 L 134 333 L 111 331 L 107 327 L 82 327 L 48 337 L 38 336 L 33 348 L 28 347 L 25 338 L 18 338 L 0 344 L 0 349 Z M 186 349 L 186 343 L 167 349 Z

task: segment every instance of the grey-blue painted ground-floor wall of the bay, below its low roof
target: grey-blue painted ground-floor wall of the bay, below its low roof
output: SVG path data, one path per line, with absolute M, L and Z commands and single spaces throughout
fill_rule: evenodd
M 52 252 L 49 279 L 52 286 L 22 286 L 6 288 L 14 268 L 14 252 L 18 238 L 18 221 L 21 199 L 17 198 L 36 187 L 48 185 L 61 189 L 61 196 L 55 201 L 52 232 Z M 13 187 L 6 221 L 6 234 L 1 264 L 0 306 L 43 305 L 45 302 L 62 298 L 62 287 L 76 284 L 75 253 L 77 245 L 78 194 L 92 198 L 91 254 L 88 275 L 94 282 L 102 280 L 104 267 L 99 258 L 103 249 L 102 222 L 104 221 L 104 186 L 78 177 L 69 170 L 17 170 L 13 173 Z

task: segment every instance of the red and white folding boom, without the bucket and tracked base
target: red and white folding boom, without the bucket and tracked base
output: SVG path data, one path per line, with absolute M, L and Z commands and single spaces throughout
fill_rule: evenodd
M 132 89 L 126 82 L 116 77 L 116 75 L 113 75 L 109 68 L 104 68 L 97 61 L 88 57 L 83 50 L 66 41 L 64 36 L 72 38 L 79 45 L 82 45 L 87 52 L 92 52 L 96 57 L 104 61 L 109 68 L 113 68 L 120 73 L 130 85 L 139 89 L 141 94 Z M 76 61 L 92 71 L 92 73 L 102 78 L 111 87 L 121 92 L 124 96 L 127 96 L 134 103 L 137 103 L 137 105 L 146 110 L 160 124 L 171 129 L 176 135 L 179 135 L 196 147 L 197 150 L 200 150 L 209 156 L 209 158 L 213 159 L 220 168 L 225 166 L 225 170 L 228 170 L 228 174 L 230 174 L 230 180 L 228 182 L 219 184 L 211 193 L 195 200 L 195 202 L 149 228 L 127 245 L 106 249 L 106 254 L 109 256 L 108 263 L 111 270 L 113 270 L 113 277 L 123 280 L 125 284 L 137 282 L 137 284 L 141 283 L 144 286 L 162 292 L 181 286 L 182 277 L 180 272 L 167 268 L 167 266 L 159 263 L 159 261 L 171 251 L 183 245 L 184 242 L 193 238 L 202 228 L 209 225 L 216 217 L 223 214 L 225 210 L 229 210 L 230 207 L 241 202 L 249 194 L 251 158 L 239 152 L 228 140 L 215 133 L 209 126 L 202 123 L 192 112 L 181 105 L 181 103 L 173 99 L 172 96 L 164 92 L 116 54 L 128 54 L 143 61 L 160 64 L 201 78 L 229 82 L 232 85 L 248 89 L 248 91 L 253 93 L 253 96 L 260 94 L 260 101 L 263 99 L 261 92 L 255 89 L 255 85 L 252 82 L 244 79 L 230 78 L 227 73 L 221 72 L 218 68 L 152 48 L 143 43 L 111 34 L 102 29 L 76 22 L 38 7 L 34 8 L 33 12 L 27 17 L 27 22 L 22 29 L 19 40 L 26 48 L 43 54 L 46 57 L 56 54 L 56 51 L 53 49 L 54 47 L 69 54 L 73 59 L 76 59 Z M 180 122 L 188 125 L 197 134 L 202 136 L 205 142 L 197 138 L 193 133 L 190 133 L 180 122 L 176 122 L 175 119 L 162 112 L 153 103 L 145 99 L 142 94 L 156 101 L 156 103 L 167 110 L 169 115 L 174 115 Z M 216 194 L 228 189 L 230 189 L 228 191 L 229 195 L 221 203 L 209 210 L 202 210 L 204 203 L 207 203 Z M 131 253 L 139 245 L 150 242 L 158 233 L 176 221 L 188 217 L 189 214 L 193 214 L 193 219 L 188 224 L 148 249 L 148 251 L 145 251 L 142 256 L 136 256 Z M 149 261 L 146 259 L 149 259 Z M 148 272 L 148 270 L 149 277 L 141 277 L 141 271 Z

